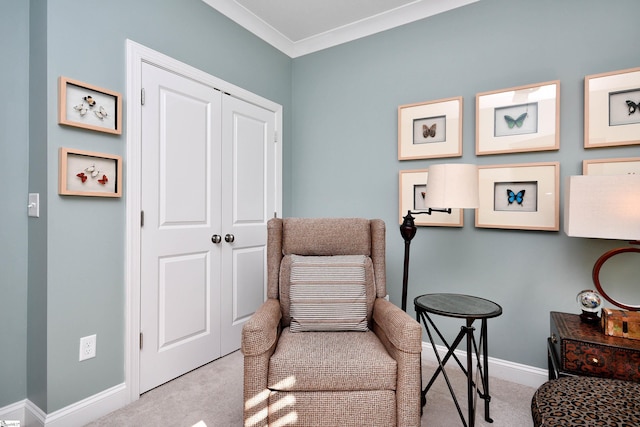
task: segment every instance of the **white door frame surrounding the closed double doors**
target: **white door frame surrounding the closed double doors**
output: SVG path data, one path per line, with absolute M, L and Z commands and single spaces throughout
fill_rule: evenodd
M 127 151 L 126 151 L 126 226 L 125 226 L 125 384 L 128 402 L 140 397 L 140 210 L 141 210 L 141 114 L 138 105 L 142 93 L 142 63 L 150 63 L 185 77 L 220 89 L 276 115 L 276 213 L 282 212 L 282 106 L 255 95 L 204 71 L 149 49 L 134 41 L 126 41 L 127 52 Z

